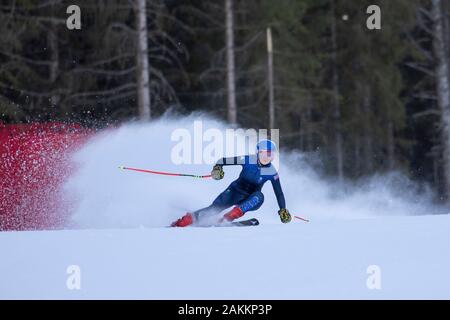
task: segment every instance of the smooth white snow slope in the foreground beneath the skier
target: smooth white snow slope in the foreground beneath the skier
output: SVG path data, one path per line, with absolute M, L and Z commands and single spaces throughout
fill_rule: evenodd
M 449 216 L 261 222 L 3 232 L 0 298 L 450 299 Z

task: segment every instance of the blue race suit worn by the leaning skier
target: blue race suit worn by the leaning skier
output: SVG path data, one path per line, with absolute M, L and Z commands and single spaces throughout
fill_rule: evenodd
M 206 215 L 217 214 L 234 205 L 237 205 L 242 213 L 258 210 L 264 202 L 264 195 L 261 189 L 264 183 L 269 180 L 277 197 L 278 206 L 280 209 L 286 208 L 280 178 L 271 163 L 262 165 L 259 163 L 256 155 L 246 155 L 222 158 L 216 164 L 221 166 L 241 165 L 242 171 L 239 174 L 239 178 L 219 194 L 210 206 L 193 213 L 195 220 L 201 219 Z

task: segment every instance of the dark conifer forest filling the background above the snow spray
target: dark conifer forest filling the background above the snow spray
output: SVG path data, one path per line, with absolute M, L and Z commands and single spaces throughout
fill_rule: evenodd
M 279 128 L 338 179 L 398 170 L 448 201 L 448 0 L 0 3 L 4 123 L 203 111 Z M 66 26 L 73 4 L 81 30 Z M 370 5 L 381 30 L 366 26 Z

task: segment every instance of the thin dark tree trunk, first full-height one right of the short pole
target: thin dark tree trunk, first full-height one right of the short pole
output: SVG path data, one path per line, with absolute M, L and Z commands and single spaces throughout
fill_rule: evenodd
M 333 116 L 335 126 L 335 155 L 336 171 L 339 180 L 344 177 L 344 154 L 342 149 L 341 107 L 339 104 L 339 74 L 337 70 L 337 27 L 336 27 L 336 3 L 331 0 L 331 42 L 332 42 L 332 68 L 333 68 Z

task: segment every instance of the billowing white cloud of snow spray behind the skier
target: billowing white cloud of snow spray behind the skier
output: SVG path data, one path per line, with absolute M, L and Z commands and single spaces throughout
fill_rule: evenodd
M 171 160 L 176 144 L 171 141 L 172 133 L 179 129 L 193 133 L 194 121 L 199 119 L 203 120 L 204 130 L 226 130 L 224 123 L 201 114 L 168 115 L 147 124 L 126 124 L 93 137 L 75 154 L 79 169 L 65 186 L 65 191 L 79 200 L 72 217 L 75 225 L 82 228 L 165 226 L 186 211 L 209 205 L 237 177 L 239 167 L 225 168 L 225 178 L 221 181 L 118 169 L 125 165 L 208 174 L 209 164 L 176 165 Z M 375 176 L 358 185 L 337 184 L 320 178 L 304 155 L 294 152 L 280 155 L 280 177 L 288 209 L 311 220 L 426 214 L 437 210 L 429 194 L 418 194 L 415 185 L 398 173 Z M 259 211 L 246 216 L 278 223 L 277 203 L 271 189 L 267 183 L 263 188 L 265 203 Z

